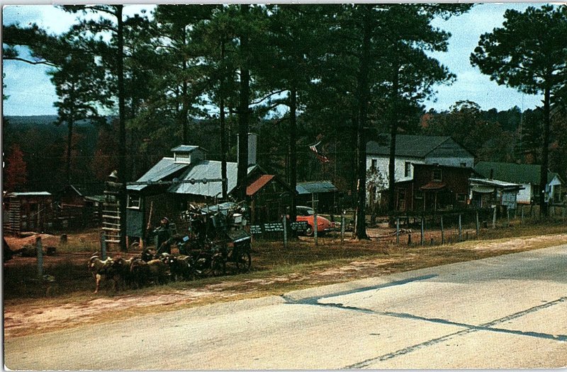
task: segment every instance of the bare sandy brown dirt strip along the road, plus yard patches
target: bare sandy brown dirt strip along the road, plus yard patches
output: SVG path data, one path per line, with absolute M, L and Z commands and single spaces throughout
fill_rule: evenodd
M 384 233 L 383 231 L 381 232 Z M 88 233 L 74 236 L 77 242 L 95 240 L 98 235 Z M 377 231 L 371 235 L 379 235 Z M 386 232 L 388 234 L 388 232 Z M 28 238 L 6 238 L 13 250 L 25 244 L 35 243 L 36 236 Z M 58 236 L 42 234 L 44 246 L 57 245 Z M 69 237 L 70 239 L 70 237 Z M 328 267 L 317 265 L 301 272 L 266 275 L 249 274 L 226 277 L 208 284 L 187 282 L 186 286 L 155 286 L 152 291 L 126 291 L 73 296 L 67 301 L 64 296 L 30 299 L 29 301 L 4 301 L 4 336 L 16 337 L 38 332 L 49 332 L 67 327 L 77 327 L 89 322 L 101 322 L 130 318 L 138 314 L 159 313 L 191 306 L 200 306 L 218 301 L 239 298 L 254 298 L 268 294 L 281 294 L 291 289 L 305 288 L 340 281 L 376 277 L 394 272 L 418 269 L 444 263 L 473 260 L 507 252 L 541 248 L 542 246 L 567 243 L 567 233 L 507 240 L 476 240 L 457 245 L 437 247 L 389 248 L 381 257 L 369 260 L 353 259 L 347 263 Z M 55 257 L 45 256 L 45 265 L 57 260 L 86 262 L 90 252 L 65 252 Z M 70 257 L 70 258 L 69 258 Z M 4 267 L 11 265 L 35 265 L 33 257 L 14 257 Z M 57 288 L 52 288 L 55 293 Z

